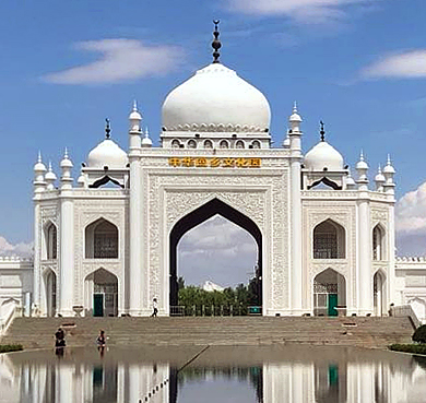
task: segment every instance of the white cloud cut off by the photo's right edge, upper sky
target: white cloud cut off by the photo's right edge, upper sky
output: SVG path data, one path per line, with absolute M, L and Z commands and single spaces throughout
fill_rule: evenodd
M 364 79 L 426 78 L 426 49 L 405 50 L 388 55 L 362 71 Z

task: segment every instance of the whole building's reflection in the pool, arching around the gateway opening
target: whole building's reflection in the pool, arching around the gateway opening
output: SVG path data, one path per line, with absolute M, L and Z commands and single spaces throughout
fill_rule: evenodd
M 262 403 L 398 403 L 423 401 L 426 360 L 360 352 L 341 358 L 288 359 L 245 367 L 190 367 L 177 374 L 168 364 L 48 361 L 0 356 L 0 402 L 177 403 L 178 388 L 196 380 L 238 379 Z M 145 400 L 146 398 L 146 400 Z M 184 403 L 184 402 L 182 402 Z

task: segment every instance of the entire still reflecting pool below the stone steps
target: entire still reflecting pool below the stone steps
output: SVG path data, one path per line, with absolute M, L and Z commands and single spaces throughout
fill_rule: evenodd
M 406 354 L 300 345 L 67 348 L 0 355 L 0 402 L 426 402 L 426 357 Z

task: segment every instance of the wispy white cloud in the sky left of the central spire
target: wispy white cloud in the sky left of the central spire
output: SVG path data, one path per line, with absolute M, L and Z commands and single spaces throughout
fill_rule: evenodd
M 47 74 L 54 84 L 109 84 L 145 76 L 164 75 L 181 64 L 182 50 L 175 46 L 146 46 L 135 39 L 87 40 L 75 45 L 79 50 L 102 54 L 88 64 Z

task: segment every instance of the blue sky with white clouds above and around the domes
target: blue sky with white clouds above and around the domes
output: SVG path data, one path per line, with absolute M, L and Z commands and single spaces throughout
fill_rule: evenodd
M 223 63 L 270 102 L 275 145 L 297 100 L 305 152 L 322 119 L 346 163 L 363 149 L 372 179 L 390 153 L 398 198 L 415 191 L 426 180 L 425 14 L 422 0 L 2 1 L 0 236 L 33 238 L 38 150 L 58 174 L 68 146 L 76 178 L 106 117 L 127 149 L 133 98 L 157 142 L 166 94 L 212 60 L 213 19 Z M 426 253 L 423 194 L 409 194 L 399 213 L 418 222 L 401 229 L 416 253 Z

